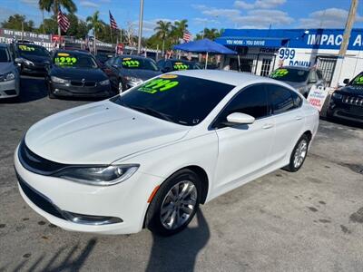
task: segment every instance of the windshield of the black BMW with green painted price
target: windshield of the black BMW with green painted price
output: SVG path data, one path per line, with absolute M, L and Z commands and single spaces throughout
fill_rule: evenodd
M 98 67 L 97 63 L 93 59 L 93 56 L 86 53 L 55 53 L 53 63 L 55 66 L 62 68 L 94 69 Z

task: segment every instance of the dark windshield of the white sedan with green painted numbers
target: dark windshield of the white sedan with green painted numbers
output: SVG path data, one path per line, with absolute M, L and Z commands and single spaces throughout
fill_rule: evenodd
M 166 121 L 193 126 L 234 87 L 190 76 L 164 74 L 111 101 Z

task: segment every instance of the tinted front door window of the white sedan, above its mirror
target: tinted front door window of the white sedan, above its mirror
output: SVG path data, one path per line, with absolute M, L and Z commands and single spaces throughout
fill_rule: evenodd
M 223 127 L 222 122 L 227 121 L 227 116 L 233 112 L 246 113 L 256 119 L 269 115 L 268 97 L 263 85 L 250 86 L 232 98 L 231 102 L 218 117 L 216 127 Z

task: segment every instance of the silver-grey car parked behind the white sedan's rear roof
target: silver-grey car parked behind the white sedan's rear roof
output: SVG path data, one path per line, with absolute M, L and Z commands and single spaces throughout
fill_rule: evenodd
M 305 97 L 308 97 L 312 85 L 326 85 L 321 71 L 315 67 L 283 66 L 272 72 L 270 77 L 291 85 Z

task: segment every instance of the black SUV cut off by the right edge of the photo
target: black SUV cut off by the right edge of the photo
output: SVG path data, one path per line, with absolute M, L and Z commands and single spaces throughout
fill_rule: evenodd
M 347 85 L 331 95 L 327 116 L 363 123 L 363 72 L 344 83 Z

